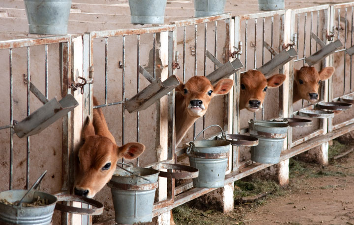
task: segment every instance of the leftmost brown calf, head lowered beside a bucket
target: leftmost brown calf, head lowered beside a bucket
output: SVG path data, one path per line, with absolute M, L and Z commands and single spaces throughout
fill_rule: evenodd
M 93 104 L 98 102 L 93 98 Z M 93 198 L 111 179 L 120 158 L 134 159 L 145 150 L 140 143 L 128 143 L 122 147 L 108 129 L 101 108 L 93 109 L 93 122 L 84 126 L 85 144 L 78 152 L 74 192 L 75 195 Z

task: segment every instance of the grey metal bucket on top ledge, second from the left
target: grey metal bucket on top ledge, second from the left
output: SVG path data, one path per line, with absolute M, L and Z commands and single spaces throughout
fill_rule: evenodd
M 167 0 L 129 0 L 132 24 L 164 24 Z

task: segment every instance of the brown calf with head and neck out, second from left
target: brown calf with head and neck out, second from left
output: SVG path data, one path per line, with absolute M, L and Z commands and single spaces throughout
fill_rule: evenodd
M 221 79 L 214 86 L 205 76 L 193 76 L 176 88 L 176 146 L 188 129 L 204 116 L 210 100 L 225 95 L 234 85 L 232 79 Z

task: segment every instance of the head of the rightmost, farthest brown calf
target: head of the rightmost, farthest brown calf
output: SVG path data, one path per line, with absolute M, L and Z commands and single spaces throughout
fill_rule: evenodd
M 321 81 L 328 79 L 334 73 L 334 67 L 325 67 L 320 71 L 314 67 L 304 66 L 300 70 L 294 69 L 294 98 L 293 102 L 300 99 L 311 103 L 319 100 L 318 89 Z

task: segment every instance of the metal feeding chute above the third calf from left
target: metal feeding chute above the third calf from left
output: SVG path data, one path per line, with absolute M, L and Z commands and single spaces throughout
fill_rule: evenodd
M 280 53 L 278 53 L 273 48 L 271 48 L 266 42 L 264 42 L 264 47 L 274 55 L 272 59 L 270 59 L 263 66 L 257 69 L 265 76 L 269 75 L 277 68 L 284 66 L 286 63 L 291 61 L 297 55 L 297 52 L 294 48 L 291 48 L 290 50 L 283 50 Z

